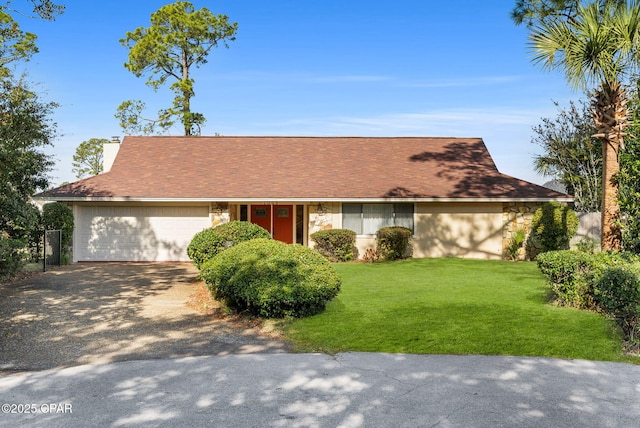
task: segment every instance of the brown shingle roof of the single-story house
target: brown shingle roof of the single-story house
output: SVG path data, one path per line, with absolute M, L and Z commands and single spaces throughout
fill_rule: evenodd
M 479 138 L 126 137 L 111 171 L 40 198 L 556 199 Z

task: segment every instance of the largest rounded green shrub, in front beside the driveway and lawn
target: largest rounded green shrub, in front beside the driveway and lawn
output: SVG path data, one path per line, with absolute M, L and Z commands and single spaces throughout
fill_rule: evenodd
M 242 242 L 205 263 L 214 298 L 254 315 L 303 317 L 324 309 L 341 280 L 318 252 L 271 239 Z

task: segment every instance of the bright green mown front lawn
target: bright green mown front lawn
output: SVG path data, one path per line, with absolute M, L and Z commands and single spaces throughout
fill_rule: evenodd
M 411 259 L 334 267 L 343 279 L 338 297 L 323 313 L 284 324 L 296 351 L 629 361 L 611 322 L 549 303 L 535 263 Z

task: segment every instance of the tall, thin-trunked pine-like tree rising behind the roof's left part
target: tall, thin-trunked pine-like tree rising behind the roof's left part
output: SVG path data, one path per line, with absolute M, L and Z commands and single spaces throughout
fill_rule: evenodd
M 178 1 L 161 7 L 151 15 L 150 27 L 128 32 L 120 43 L 129 48 L 124 66 L 136 77 L 147 75 L 146 84 L 157 91 L 167 80 L 175 93 L 173 105 L 158 112 L 157 119 L 142 116 L 142 101 L 125 101 L 118 107 L 116 118 L 127 133 L 153 133 L 156 127 L 170 128 L 176 120 L 184 127 L 184 135 L 197 135 L 205 122 L 201 113 L 191 111 L 195 96 L 191 67 L 207 62 L 210 51 L 235 40 L 237 23 L 226 15 L 214 15 L 207 8 L 195 10 L 189 2 Z

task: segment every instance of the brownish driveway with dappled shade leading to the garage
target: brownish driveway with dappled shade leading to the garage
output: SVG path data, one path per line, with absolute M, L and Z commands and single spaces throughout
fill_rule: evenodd
M 197 275 L 186 263 L 75 264 L 0 286 L 0 371 L 287 351 L 187 306 Z

